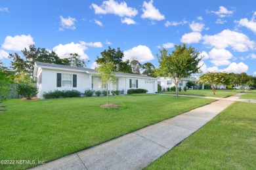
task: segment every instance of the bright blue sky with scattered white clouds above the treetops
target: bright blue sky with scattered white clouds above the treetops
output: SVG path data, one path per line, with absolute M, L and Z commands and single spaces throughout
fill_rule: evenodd
M 256 75 L 256 1 L 0 1 L 0 59 L 24 47 L 96 56 L 120 47 L 125 59 L 158 67 L 159 48 L 193 46 L 202 71 Z

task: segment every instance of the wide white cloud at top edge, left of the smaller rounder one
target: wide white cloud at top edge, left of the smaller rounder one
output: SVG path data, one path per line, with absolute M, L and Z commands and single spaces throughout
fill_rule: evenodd
M 91 7 L 95 10 L 95 14 L 115 14 L 121 17 L 133 17 L 138 14 L 137 9 L 128 7 L 125 2 L 118 3 L 114 0 L 103 1 L 100 6 L 92 3 Z

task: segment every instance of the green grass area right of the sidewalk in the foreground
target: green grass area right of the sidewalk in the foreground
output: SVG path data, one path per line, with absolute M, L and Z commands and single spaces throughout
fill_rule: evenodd
M 146 169 L 255 169 L 256 103 L 233 103 Z

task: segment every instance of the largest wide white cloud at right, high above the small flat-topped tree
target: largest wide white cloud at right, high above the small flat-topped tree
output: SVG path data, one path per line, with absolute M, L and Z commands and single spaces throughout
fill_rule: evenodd
M 255 49 L 255 42 L 251 41 L 247 35 L 229 29 L 225 29 L 216 35 L 203 36 L 203 44 L 209 44 L 218 49 L 230 47 L 238 52 Z

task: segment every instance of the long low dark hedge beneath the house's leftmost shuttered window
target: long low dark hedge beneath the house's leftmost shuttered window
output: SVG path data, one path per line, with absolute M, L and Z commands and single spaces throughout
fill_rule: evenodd
M 43 97 L 45 99 L 55 99 L 55 98 L 63 98 L 63 97 L 80 97 L 81 92 L 78 90 L 54 90 L 50 92 L 44 92 Z

